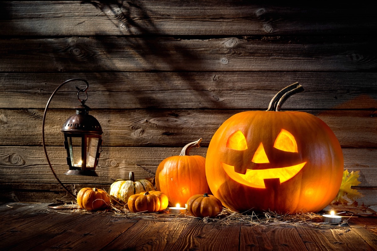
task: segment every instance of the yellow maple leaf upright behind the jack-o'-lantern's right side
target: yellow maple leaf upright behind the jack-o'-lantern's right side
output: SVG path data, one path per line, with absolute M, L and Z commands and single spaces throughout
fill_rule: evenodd
M 344 170 L 342 185 L 340 185 L 339 192 L 335 197 L 334 201 L 332 202 L 333 204 L 347 204 L 348 201 L 346 200 L 346 198 L 350 199 L 351 201 L 355 201 L 357 198 L 361 198 L 364 196 L 356 189 L 351 188 L 352 186 L 357 186 L 360 184 L 360 181 L 357 180 L 357 178 L 359 178 L 359 173 L 360 171 L 348 172 L 348 169 Z

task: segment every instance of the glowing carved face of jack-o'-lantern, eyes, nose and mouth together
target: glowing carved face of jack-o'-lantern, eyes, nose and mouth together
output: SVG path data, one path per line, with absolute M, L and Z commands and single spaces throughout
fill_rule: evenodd
M 232 153 L 230 156 L 233 158 L 222 160 L 221 165 L 232 180 L 250 187 L 266 188 L 265 181 L 270 179 L 281 184 L 293 178 L 307 163 L 300 161 L 296 140 L 284 129 L 277 135 L 273 149 L 269 151 L 270 158 L 262 143 L 251 161 L 245 154 L 246 150 L 245 136 L 241 131 L 234 132 L 227 141 L 227 151 Z

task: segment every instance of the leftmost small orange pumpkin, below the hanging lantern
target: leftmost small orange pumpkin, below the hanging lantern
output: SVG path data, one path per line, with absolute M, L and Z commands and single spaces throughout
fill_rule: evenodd
M 110 204 L 110 198 L 105 190 L 84 187 L 77 194 L 77 203 L 85 210 L 98 210 L 106 208 Z

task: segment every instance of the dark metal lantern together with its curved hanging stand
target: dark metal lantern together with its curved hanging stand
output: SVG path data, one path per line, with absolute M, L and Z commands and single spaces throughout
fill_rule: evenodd
M 100 148 L 102 145 L 102 128 L 97 119 L 88 114 L 90 108 L 85 105 L 88 98 L 87 89 L 89 88 L 89 83 L 84 79 L 69 79 L 62 84 L 60 84 L 55 91 L 51 94 L 50 99 L 46 104 L 46 108 L 43 114 L 43 124 L 42 124 L 42 144 L 44 153 L 46 155 L 47 162 L 50 166 L 52 173 L 58 183 L 69 193 L 71 196 L 76 198 L 76 196 L 67 189 L 66 186 L 59 180 L 54 169 L 52 168 L 51 161 L 48 157 L 46 144 L 44 139 L 44 125 L 46 120 L 46 113 L 48 107 L 51 103 L 52 98 L 55 93 L 65 84 L 71 81 L 83 81 L 86 83 L 86 88 L 80 89 L 76 86 L 77 99 L 80 101 L 81 106 L 76 108 L 76 114 L 70 116 L 66 122 L 63 124 L 61 132 L 64 133 L 64 147 L 67 150 L 67 164 L 69 170 L 65 173 L 67 175 L 85 175 L 85 176 L 98 176 L 95 173 L 95 167 L 98 164 L 98 159 L 100 157 Z M 80 99 L 80 93 L 85 92 L 85 99 Z M 79 148 L 79 146 L 81 148 Z M 79 149 L 79 150 L 78 150 Z

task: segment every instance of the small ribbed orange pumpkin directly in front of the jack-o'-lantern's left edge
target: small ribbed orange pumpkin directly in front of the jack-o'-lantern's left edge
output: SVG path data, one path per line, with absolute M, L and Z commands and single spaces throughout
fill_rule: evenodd
M 195 217 L 215 217 L 222 211 L 221 201 L 213 195 L 197 194 L 187 200 L 187 211 Z

